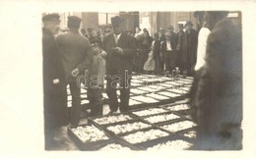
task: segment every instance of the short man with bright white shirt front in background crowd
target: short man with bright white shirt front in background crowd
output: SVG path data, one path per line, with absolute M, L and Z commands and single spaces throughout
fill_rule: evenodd
M 163 55 L 165 71 L 171 74 L 175 68 L 176 37 L 171 32 L 165 32 L 165 40 L 160 45 L 160 51 Z

